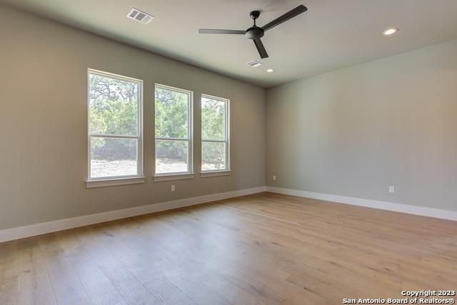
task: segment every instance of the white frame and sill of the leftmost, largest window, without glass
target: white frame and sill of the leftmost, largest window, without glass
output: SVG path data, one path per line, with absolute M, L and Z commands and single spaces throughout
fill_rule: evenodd
M 137 135 L 105 135 L 90 132 L 90 81 L 92 75 L 104 76 L 107 78 L 114 78 L 119 81 L 129 81 L 138 85 L 138 103 L 137 103 Z M 88 151 L 88 177 L 86 180 L 86 187 L 105 187 L 110 185 L 129 185 L 134 183 L 143 183 L 143 81 L 128 76 L 121 76 L 119 74 L 99 71 L 95 69 L 87 69 L 87 151 Z M 111 139 L 135 139 L 137 142 L 136 148 L 136 165 L 137 175 L 122 175 L 122 176 L 107 176 L 107 177 L 91 177 L 91 138 L 111 138 Z M 106 181 L 106 182 L 105 182 Z

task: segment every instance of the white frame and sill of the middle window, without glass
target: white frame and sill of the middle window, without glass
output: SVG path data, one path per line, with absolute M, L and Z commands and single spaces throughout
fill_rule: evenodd
M 156 137 L 156 128 L 154 124 L 154 181 L 167 181 L 167 180 L 181 180 L 194 178 L 194 92 L 162 85 L 156 83 L 154 85 L 154 120 L 156 119 L 156 89 L 174 91 L 189 95 L 189 103 L 187 103 L 187 138 L 165 138 Z M 157 140 L 171 140 L 187 142 L 187 171 L 186 172 L 156 172 L 156 141 Z

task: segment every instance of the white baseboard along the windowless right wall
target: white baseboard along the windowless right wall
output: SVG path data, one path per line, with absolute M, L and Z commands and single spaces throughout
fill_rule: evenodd
M 361 207 L 373 207 L 375 209 L 389 210 L 421 216 L 436 217 L 442 219 L 456 220 L 457 212 L 448 210 L 438 210 L 431 207 L 417 207 L 416 205 L 402 205 L 399 203 L 361 199 L 355 197 L 345 197 L 338 195 L 328 195 L 318 192 L 306 192 L 301 190 L 283 189 L 281 187 L 266 187 L 267 192 L 276 192 L 278 194 L 306 197 L 331 202 L 346 203 L 347 205 L 359 205 Z

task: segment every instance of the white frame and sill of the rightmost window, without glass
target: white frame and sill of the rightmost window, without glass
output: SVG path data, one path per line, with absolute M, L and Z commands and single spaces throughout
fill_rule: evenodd
M 203 98 L 208 98 L 211 100 L 219 100 L 225 103 L 225 110 L 226 110 L 226 118 L 225 118 L 225 139 L 224 140 L 213 140 L 213 139 L 204 139 L 203 133 L 201 136 L 201 166 L 200 172 L 201 177 L 214 177 L 214 176 L 224 176 L 230 175 L 231 166 L 230 166 L 230 100 L 228 98 L 220 98 L 219 96 L 209 95 L 202 93 L 201 100 Z M 200 109 L 201 110 L 201 109 Z M 201 112 L 202 113 L 202 112 Z M 201 128 L 202 126 L 200 126 Z M 203 166 L 203 143 L 225 143 L 226 144 L 226 168 L 224 170 L 203 170 L 201 167 Z

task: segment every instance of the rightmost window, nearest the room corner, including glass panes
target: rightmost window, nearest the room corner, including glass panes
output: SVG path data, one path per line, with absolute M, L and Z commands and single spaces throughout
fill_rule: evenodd
M 229 100 L 201 95 L 201 171 L 230 170 Z

